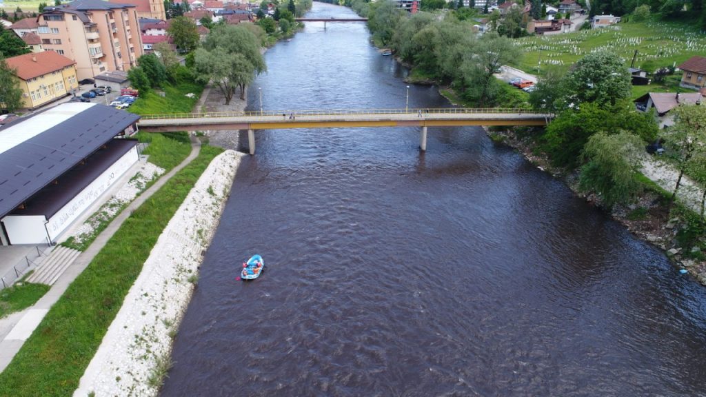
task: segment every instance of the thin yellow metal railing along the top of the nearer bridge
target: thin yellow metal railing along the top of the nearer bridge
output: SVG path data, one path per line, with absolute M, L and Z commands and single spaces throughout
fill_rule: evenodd
M 502 108 L 502 107 L 443 107 L 443 108 L 409 108 L 409 109 L 318 109 L 318 110 L 263 110 L 249 112 L 196 112 L 196 113 L 162 113 L 144 114 L 143 120 L 150 119 L 198 119 L 202 117 L 289 117 L 300 116 L 346 116 L 369 114 L 542 114 L 551 116 L 550 112 L 535 109 Z

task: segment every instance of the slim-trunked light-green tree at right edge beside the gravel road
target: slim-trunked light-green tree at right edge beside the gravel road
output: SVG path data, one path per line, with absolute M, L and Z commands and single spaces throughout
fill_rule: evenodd
M 681 186 L 681 178 L 690 160 L 702 155 L 706 150 L 706 107 L 701 105 L 679 105 L 671 109 L 674 115 L 674 125 L 666 129 L 665 138 L 678 169 L 678 177 L 674 191 L 671 194 L 669 208 L 674 204 L 676 192 Z

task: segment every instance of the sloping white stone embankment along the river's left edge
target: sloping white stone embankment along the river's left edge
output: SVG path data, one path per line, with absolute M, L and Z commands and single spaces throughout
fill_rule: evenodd
M 157 240 L 74 396 L 156 396 L 169 369 L 201 254 L 220 220 L 242 153 L 215 158 Z

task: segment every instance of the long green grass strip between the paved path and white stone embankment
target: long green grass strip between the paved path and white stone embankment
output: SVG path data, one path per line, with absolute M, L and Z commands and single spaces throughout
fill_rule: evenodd
M 157 238 L 219 153 L 203 146 L 125 221 L 0 374 L 0 396 L 71 396 Z

